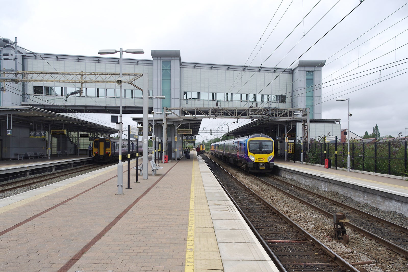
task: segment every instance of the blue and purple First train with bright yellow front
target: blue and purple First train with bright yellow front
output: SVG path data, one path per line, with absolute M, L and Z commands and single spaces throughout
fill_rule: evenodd
M 246 172 L 271 172 L 275 142 L 264 134 L 253 134 L 211 144 L 210 153 Z

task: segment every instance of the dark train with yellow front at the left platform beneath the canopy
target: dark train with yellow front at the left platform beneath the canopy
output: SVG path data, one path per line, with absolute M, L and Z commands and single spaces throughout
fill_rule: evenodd
M 142 144 L 139 144 L 139 156 L 142 155 Z M 136 141 L 130 141 L 130 157 L 136 157 Z M 122 139 L 122 155 L 127 157 L 128 140 Z M 111 162 L 119 160 L 119 139 L 99 137 L 93 140 L 92 155 L 97 162 Z

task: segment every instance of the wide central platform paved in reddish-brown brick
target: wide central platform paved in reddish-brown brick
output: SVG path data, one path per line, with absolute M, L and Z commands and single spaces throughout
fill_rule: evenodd
M 128 189 L 124 162 L 122 195 L 109 166 L 0 199 L 2 271 L 277 271 L 201 158 L 160 166 L 135 183 L 133 159 Z

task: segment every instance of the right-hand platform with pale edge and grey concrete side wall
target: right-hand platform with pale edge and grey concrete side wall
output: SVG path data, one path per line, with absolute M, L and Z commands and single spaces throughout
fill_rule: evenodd
M 408 217 L 408 177 L 275 159 L 275 173 Z

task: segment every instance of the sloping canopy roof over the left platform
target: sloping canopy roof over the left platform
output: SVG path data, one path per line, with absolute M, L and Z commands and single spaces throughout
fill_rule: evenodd
M 115 128 L 79 119 L 73 114 L 53 113 L 33 106 L 0 107 L 0 121 L 2 124 L 7 124 L 7 117 L 11 125 L 42 125 L 44 129 L 51 125 L 52 129 L 68 129 L 89 133 L 118 133 Z

